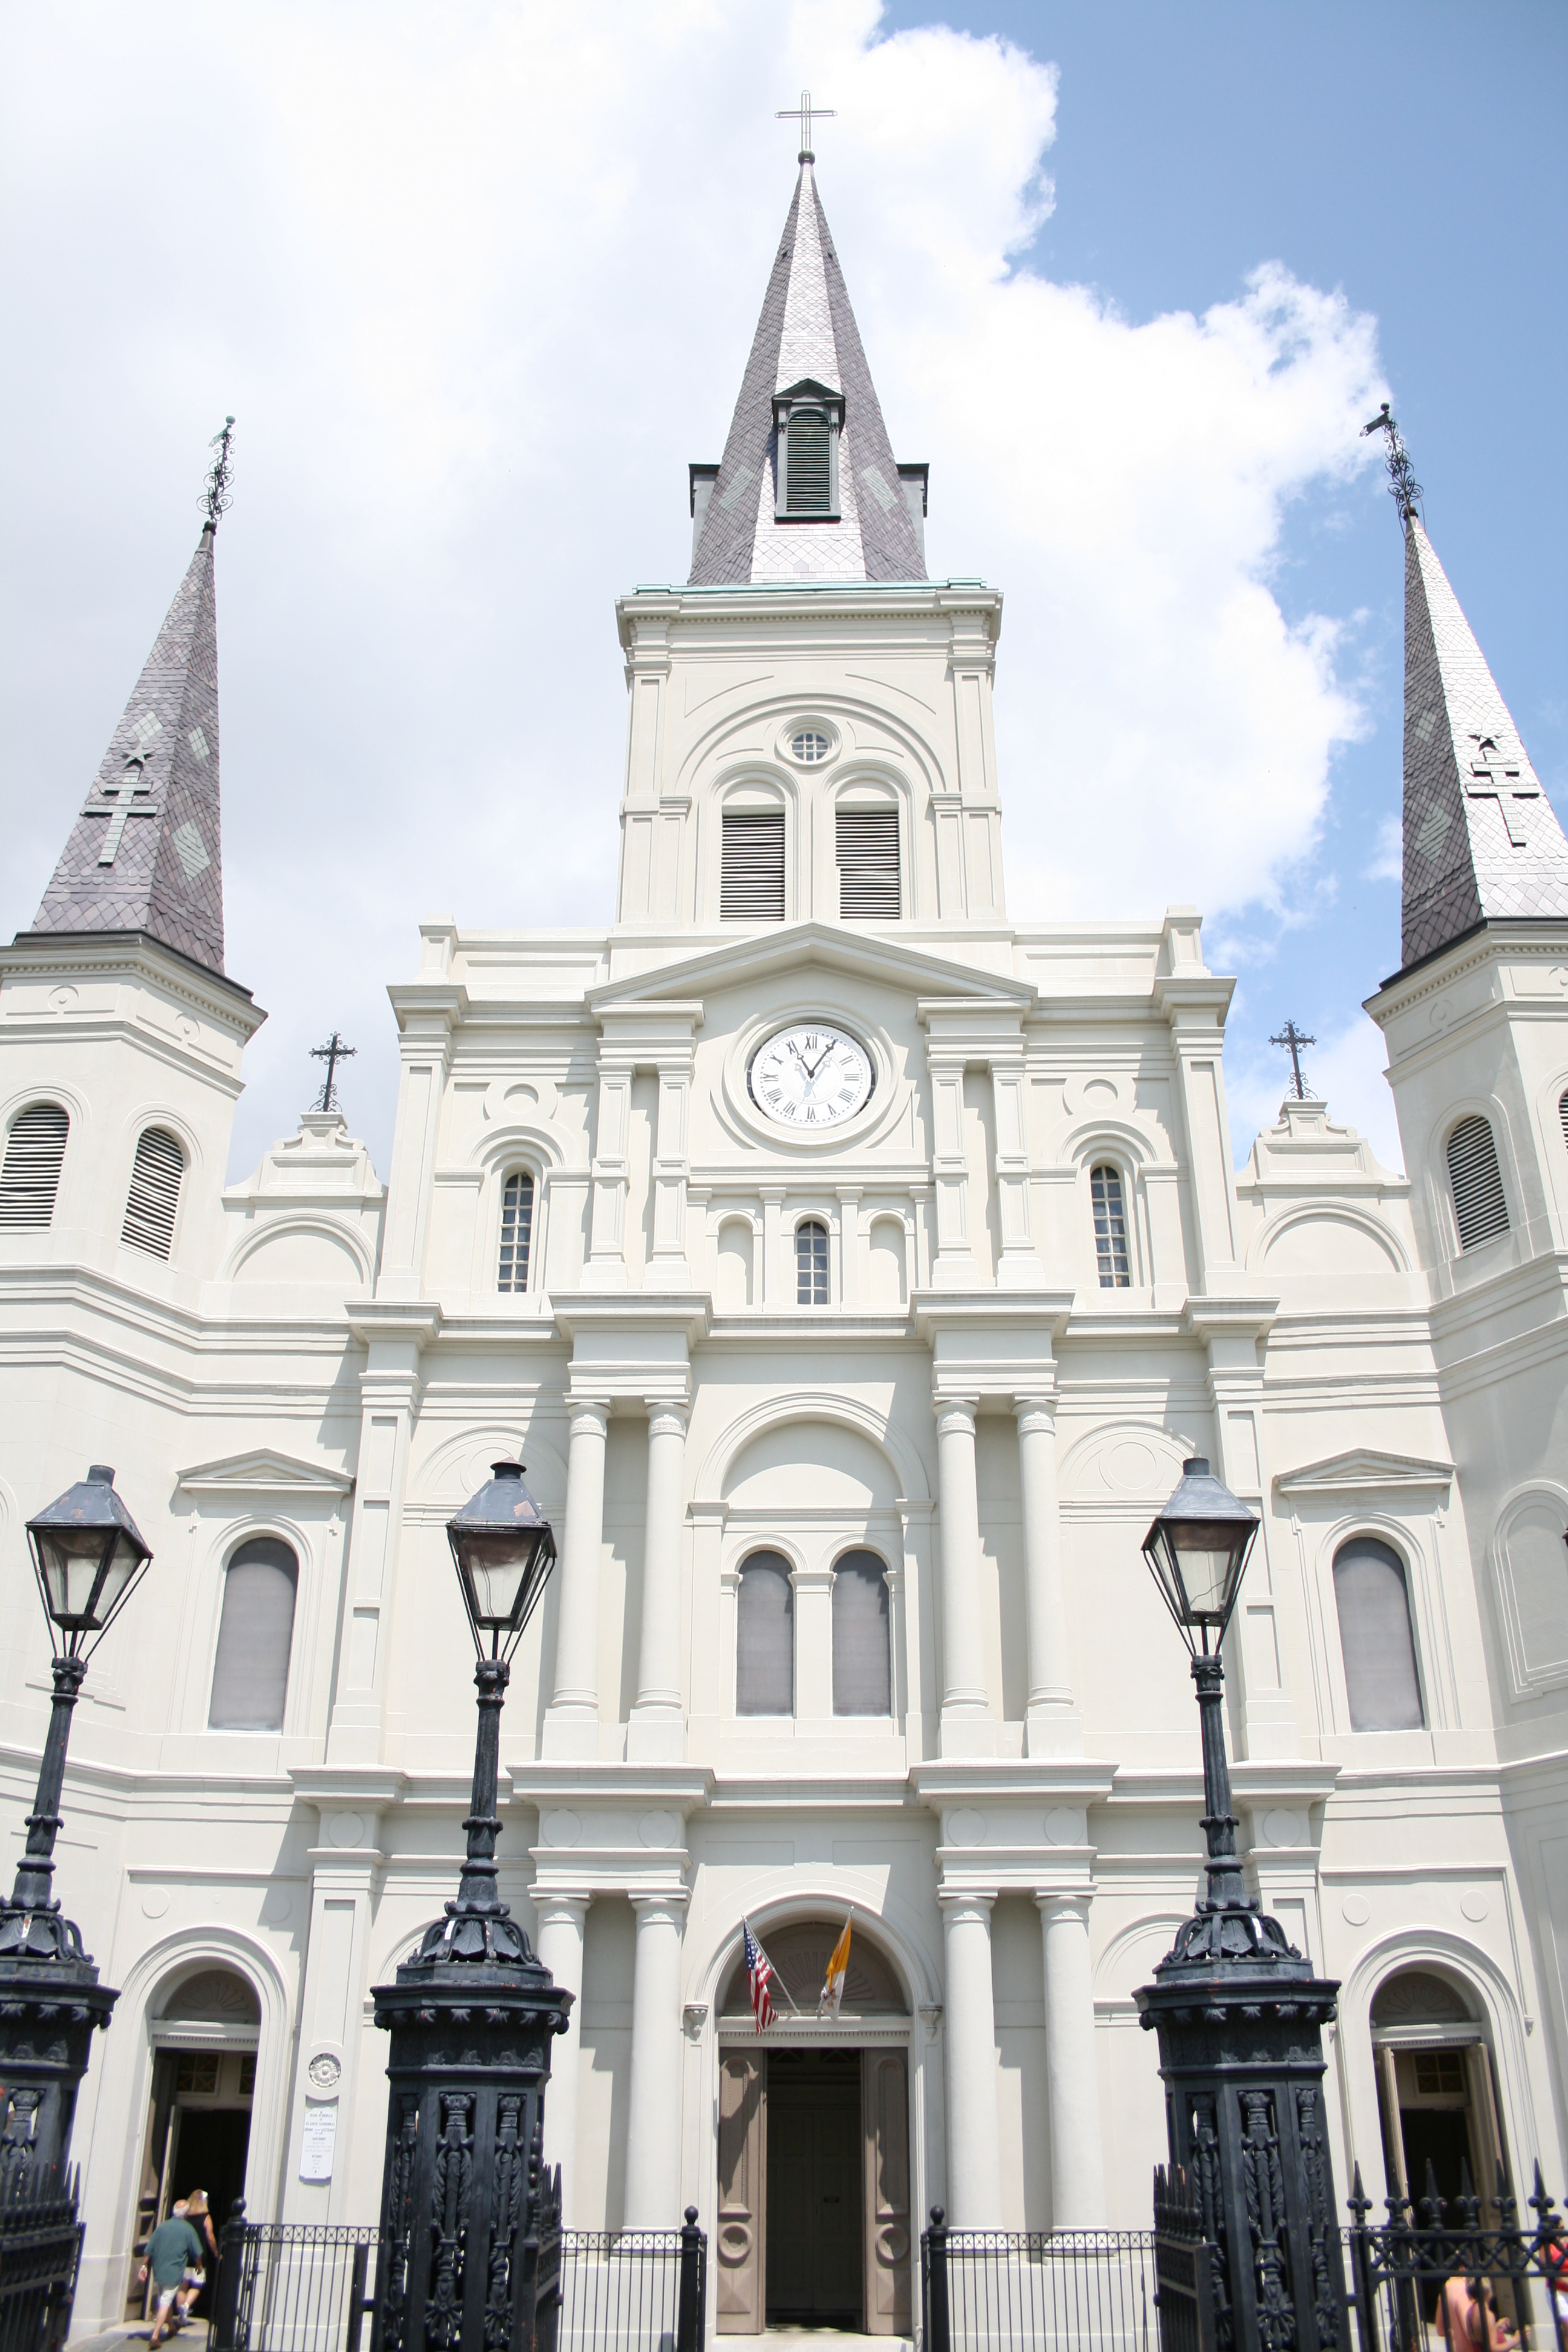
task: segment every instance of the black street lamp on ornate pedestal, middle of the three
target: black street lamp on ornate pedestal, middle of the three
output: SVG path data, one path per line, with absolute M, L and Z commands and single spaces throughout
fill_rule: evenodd
M 480 1733 L 456 1900 L 374 1990 L 376 2025 L 393 2037 L 376 2303 L 381 2352 L 522 2352 L 541 2239 L 559 2230 L 541 2138 L 550 2037 L 567 2032 L 571 1994 L 496 1896 L 496 1780 L 510 1661 L 555 1534 L 522 1463 L 496 1463 L 447 1541 L 475 1637 Z

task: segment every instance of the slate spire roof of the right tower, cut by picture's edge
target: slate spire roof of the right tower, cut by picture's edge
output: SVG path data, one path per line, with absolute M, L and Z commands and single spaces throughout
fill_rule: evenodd
M 1418 515 L 1403 767 L 1401 969 L 1481 922 L 1568 922 L 1568 840 Z

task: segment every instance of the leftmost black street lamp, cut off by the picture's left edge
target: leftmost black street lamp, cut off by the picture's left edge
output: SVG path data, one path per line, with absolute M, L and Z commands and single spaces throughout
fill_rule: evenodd
M 28 1519 L 28 1550 L 49 1618 L 54 1703 L 28 1842 L 0 1903 L 0 2187 L 63 2169 L 94 2025 L 120 1999 L 99 1983 L 82 1931 L 52 1896 L 66 1745 L 87 1661 L 153 1557 L 115 1494 L 115 1472 L 87 1477 Z M 38 2190 L 33 2190 L 38 2194 Z

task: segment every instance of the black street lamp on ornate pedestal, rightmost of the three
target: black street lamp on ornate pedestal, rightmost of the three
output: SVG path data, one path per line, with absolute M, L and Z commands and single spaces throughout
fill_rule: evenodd
M 1321 2039 L 1340 1987 L 1314 1976 L 1279 1919 L 1248 1896 L 1229 1809 L 1220 1644 L 1258 1524 L 1197 1458 L 1182 1463 L 1143 1543 L 1192 1653 L 1208 1884 L 1154 1983 L 1133 1999 L 1159 2034 L 1171 2166 L 1197 2194 L 1213 2246 L 1218 2343 L 1347 2352 Z

